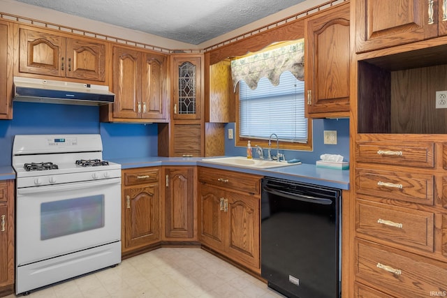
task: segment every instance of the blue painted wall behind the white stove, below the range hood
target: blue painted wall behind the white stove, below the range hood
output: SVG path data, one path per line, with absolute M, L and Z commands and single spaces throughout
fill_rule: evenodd
M 99 108 L 85 105 L 13 103 L 13 120 L 0 120 L 0 165 L 10 165 L 14 135 L 100 133 L 103 158 L 157 156 L 156 124 L 108 124 Z

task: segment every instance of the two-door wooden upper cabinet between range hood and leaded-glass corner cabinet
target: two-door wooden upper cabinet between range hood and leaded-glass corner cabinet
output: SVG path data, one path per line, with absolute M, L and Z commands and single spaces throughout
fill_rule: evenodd
M 115 103 L 102 108 L 103 120 L 166 121 L 166 68 L 164 54 L 113 47 Z

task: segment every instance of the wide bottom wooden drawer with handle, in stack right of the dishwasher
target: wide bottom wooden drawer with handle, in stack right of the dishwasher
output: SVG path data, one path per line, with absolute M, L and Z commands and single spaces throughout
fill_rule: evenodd
M 395 297 L 430 297 L 447 288 L 447 264 L 356 241 L 356 278 Z

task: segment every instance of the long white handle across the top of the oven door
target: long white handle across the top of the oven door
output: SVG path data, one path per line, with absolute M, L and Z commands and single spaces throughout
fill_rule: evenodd
M 29 195 L 30 193 L 50 193 L 54 191 L 71 191 L 74 189 L 105 186 L 110 184 L 121 184 L 121 178 L 102 179 L 96 181 L 83 181 L 66 184 L 56 184 L 48 186 L 33 186 L 27 188 L 17 188 L 17 195 Z

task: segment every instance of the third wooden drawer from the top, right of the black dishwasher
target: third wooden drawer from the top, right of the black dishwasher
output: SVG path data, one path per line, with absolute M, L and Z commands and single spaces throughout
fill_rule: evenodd
M 357 232 L 433 251 L 434 214 L 430 212 L 357 200 L 356 215 Z

